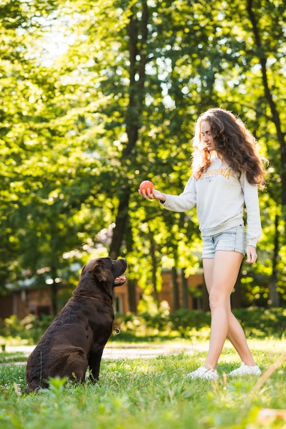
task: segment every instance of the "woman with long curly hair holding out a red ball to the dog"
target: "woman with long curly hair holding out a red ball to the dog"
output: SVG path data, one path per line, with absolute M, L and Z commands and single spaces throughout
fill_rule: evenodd
M 146 199 L 158 199 L 167 210 L 185 212 L 196 205 L 203 237 L 211 335 L 207 359 L 202 367 L 187 374 L 190 378 L 218 378 L 216 366 L 226 337 L 242 360 L 242 365 L 229 376 L 261 374 L 242 326 L 231 312 L 231 292 L 242 259 L 246 254 L 246 262 L 256 262 L 255 246 L 261 236 L 257 188 L 263 187 L 265 171 L 256 143 L 233 113 L 221 108 L 209 109 L 196 122 L 192 177 L 183 193 L 168 195 L 155 188 L 140 193 Z

